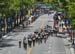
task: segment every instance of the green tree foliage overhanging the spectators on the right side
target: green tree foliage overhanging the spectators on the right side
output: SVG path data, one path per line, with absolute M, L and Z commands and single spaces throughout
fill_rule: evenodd
M 48 4 L 48 2 L 45 3 Z M 72 20 L 71 25 L 75 27 L 75 0 L 52 0 L 49 3 L 55 5 L 57 10 L 63 9 L 67 11 Z

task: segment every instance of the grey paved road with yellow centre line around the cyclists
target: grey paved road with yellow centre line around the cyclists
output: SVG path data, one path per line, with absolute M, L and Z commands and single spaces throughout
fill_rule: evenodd
M 36 44 L 35 47 L 24 50 L 23 47 L 18 47 L 19 40 L 23 40 L 24 36 L 32 33 L 36 29 L 43 28 L 45 25 L 53 25 L 53 16 L 48 14 L 40 16 L 34 23 L 25 29 L 16 29 L 15 32 L 10 32 L 9 37 L 0 42 L 0 54 L 66 54 L 64 42 L 62 38 L 49 37 L 46 43 Z

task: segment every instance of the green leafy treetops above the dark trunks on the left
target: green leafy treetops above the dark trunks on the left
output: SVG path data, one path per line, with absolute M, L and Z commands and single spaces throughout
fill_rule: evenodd
M 0 14 L 10 16 L 21 8 L 30 7 L 32 3 L 36 3 L 36 0 L 0 0 Z

